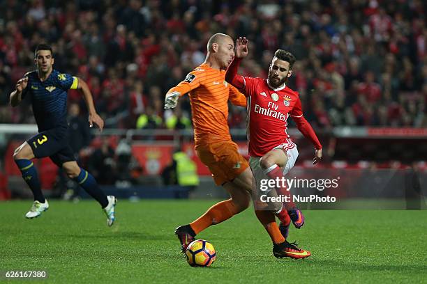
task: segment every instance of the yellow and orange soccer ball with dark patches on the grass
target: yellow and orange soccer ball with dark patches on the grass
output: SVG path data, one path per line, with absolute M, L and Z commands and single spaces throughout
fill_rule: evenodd
M 192 267 L 209 267 L 216 258 L 215 248 L 204 239 L 196 239 L 188 245 L 186 258 Z

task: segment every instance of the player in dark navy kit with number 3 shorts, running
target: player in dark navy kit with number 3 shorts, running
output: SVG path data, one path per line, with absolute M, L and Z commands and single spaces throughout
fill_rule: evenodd
M 73 150 L 68 145 L 68 123 L 66 121 L 67 90 L 82 91 L 89 109 L 89 125 L 98 125 L 100 131 L 104 121 L 96 113 L 91 91 L 80 78 L 53 69 L 54 57 L 49 45 L 38 45 L 34 63 L 37 70 L 28 72 L 17 81 L 15 90 L 10 93 L 10 105 L 16 107 L 24 98 L 31 100 L 38 134 L 24 142 L 15 150 L 13 159 L 20 168 L 22 178 L 33 192 L 34 202 L 25 216 L 29 219 L 40 216 L 49 208 L 40 188 L 38 173 L 31 159 L 50 157 L 57 166 L 62 167 L 68 178 L 75 180 L 87 193 L 100 203 L 107 215 L 107 225 L 115 220 L 116 198 L 105 196 L 93 176 L 77 164 Z

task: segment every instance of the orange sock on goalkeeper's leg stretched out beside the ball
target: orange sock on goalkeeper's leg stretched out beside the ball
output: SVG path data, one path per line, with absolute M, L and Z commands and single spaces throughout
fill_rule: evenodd
M 234 205 L 232 199 L 224 200 L 207 210 L 202 216 L 200 216 L 197 220 L 190 223 L 191 228 L 193 228 L 196 235 L 202 230 L 208 228 L 211 225 L 216 225 L 230 219 L 234 214 L 237 214 L 238 211 L 236 206 Z

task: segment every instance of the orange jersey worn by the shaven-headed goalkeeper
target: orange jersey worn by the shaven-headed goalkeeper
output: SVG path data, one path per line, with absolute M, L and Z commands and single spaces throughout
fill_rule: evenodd
M 168 93 L 174 91 L 189 92 L 196 146 L 231 141 L 227 102 L 246 107 L 246 97 L 225 81 L 225 70 L 202 63 Z

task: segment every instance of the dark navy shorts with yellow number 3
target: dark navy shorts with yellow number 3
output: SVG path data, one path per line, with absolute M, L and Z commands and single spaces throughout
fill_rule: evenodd
M 57 127 L 31 137 L 27 143 L 36 158 L 50 157 L 59 167 L 66 161 L 75 161 L 74 152 L 68 145 L 68 129 Z

